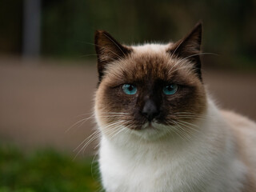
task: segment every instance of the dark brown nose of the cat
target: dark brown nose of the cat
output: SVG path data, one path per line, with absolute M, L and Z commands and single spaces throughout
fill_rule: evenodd
M 152 121 L 159 114 L 158 107 L 152 100 L 147 100 L 142 109 L 142 114 L 149 120 Z

